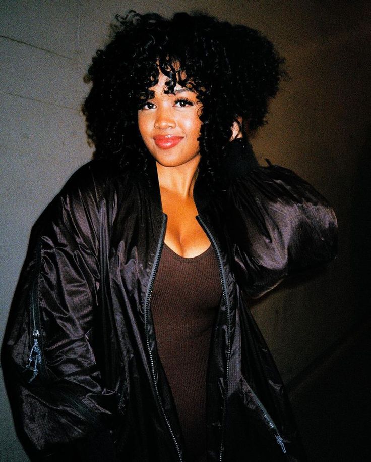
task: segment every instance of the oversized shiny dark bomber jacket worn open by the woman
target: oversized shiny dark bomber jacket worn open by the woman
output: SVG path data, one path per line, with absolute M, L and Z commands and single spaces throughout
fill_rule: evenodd
M 259 166 L 243 140 L 231 146 L 224 186 L 211 193 L 198 177 L 194 187 L 222 286 L 207 368 L 208 462 L 301 461 L 249 299 L 331 260 L 336 218 L 292 171 Z M 150 307 L 166 219 L 150 157 L 146 175 L 87 163 L 34 225 L 2 362 L 35 460 L 189 460 Z

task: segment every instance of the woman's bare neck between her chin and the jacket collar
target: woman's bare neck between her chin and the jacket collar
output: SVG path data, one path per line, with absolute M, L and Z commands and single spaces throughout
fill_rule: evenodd
M 174 167 L 166 167 L 156 161 L 160 189 L 168 190 L 184 198 L 192 197 L 199 162 L 200 156 Z

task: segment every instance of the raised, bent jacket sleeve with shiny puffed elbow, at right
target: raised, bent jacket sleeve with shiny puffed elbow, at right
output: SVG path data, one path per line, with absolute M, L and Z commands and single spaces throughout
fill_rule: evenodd
M 247 141 L 227 149 L 228 228 L 246 293 L 259 297 L 335 258 L 337 221 L 328 201 L 291 170 L 259 166 Z

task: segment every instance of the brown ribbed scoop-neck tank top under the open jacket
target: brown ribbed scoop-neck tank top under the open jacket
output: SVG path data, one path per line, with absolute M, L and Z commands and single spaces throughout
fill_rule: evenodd
M 151 312 L 189 462 L 206 462 L 206 371 L 222 291 L 212 246 L 184 258 L 164 244 Z

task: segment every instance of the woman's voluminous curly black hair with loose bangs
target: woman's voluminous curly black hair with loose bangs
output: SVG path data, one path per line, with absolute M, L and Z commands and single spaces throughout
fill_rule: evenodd
M 199 175 L 212 186 L 237 117 L 249 130 L 265 123 L 268 101 L 286 75 L 284 59 L 257 30 L 201 12 L 166 19 L 131 10 L 116 20 L 113 38 L 97 51 L 86 75 L 92 88 L 82 110 L 94 157 L 146 171 L 138 109 L 153 97 L 149 88 L 160 69 L 167 92 L 179 83 L 194 89 L 202 104 Z

